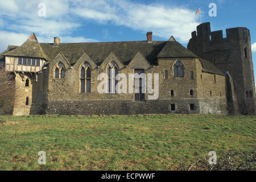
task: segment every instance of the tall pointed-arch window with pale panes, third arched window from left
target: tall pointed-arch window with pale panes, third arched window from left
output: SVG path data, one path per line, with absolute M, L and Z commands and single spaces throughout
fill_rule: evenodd
M 117 63 L 115 61 L 112 61 L 109 63 L 108 66 L 108 92 L 109 93 L 116 93 L 115 86 L 117 85 L 117 74 L 118 74 L 118 68 Z

